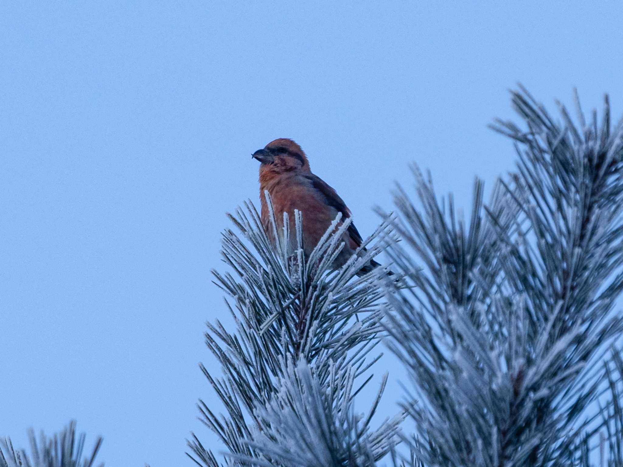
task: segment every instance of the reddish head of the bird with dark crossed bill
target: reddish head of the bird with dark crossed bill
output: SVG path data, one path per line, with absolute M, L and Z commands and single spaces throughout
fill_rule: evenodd
M 292 171 L 310 172 L 310 163 L 301 147 L 287 138 L 271 141 L 264 149 L 255 151 L 252 157 L 262 163 L 260 178 Z

